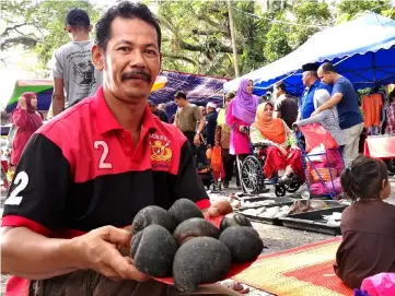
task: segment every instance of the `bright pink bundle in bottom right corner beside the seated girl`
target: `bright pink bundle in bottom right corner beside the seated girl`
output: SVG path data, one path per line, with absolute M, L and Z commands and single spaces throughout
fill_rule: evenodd
M 370 296 L 394 296 L 395 273 L 379 273 L 362 281 L 361 291 Z

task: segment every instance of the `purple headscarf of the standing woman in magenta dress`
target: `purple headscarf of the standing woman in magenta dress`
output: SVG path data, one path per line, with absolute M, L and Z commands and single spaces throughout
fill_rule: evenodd
M 240 82 L 236 96 L 232 100 L 232 115 L 251 125 L 255 121 L 259 98 L 256 95 L 247 93 L 248 82 L 248 79 L 243 79 Z

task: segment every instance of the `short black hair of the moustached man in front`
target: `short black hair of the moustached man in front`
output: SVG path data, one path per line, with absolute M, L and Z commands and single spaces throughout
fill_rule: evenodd
M 116 17 L 139 19 L 149 23 L 156 29 L 158 48 L 161 51 L 162 32 L 156 16 L 146 4 L 123 1 L 109 8 L 95 25 L 95 44 L 106 51 L 111 38 L 112 23 Z

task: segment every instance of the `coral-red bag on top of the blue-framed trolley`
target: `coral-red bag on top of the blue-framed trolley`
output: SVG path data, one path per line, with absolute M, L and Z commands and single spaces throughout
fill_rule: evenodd
M 324 144 L 325 149 L 339 147 L 334 137 L 320 123 L 306 125 L 304 127 L 299 127 L 299 129 L 304 134 L 307 153 L 314 147 L 321 146 L 321 144 Z

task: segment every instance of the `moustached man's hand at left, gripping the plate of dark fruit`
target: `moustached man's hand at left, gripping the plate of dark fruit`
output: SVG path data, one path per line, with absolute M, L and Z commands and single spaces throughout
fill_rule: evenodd
M 105 226 L 70 241 L 69 256 L 80 269 L 91 269 L 112 279 L 146 281 L 147 274 L 139 272 L 129 257 L 123 257 L 119 247 L 130 248 L 131 233 Z

